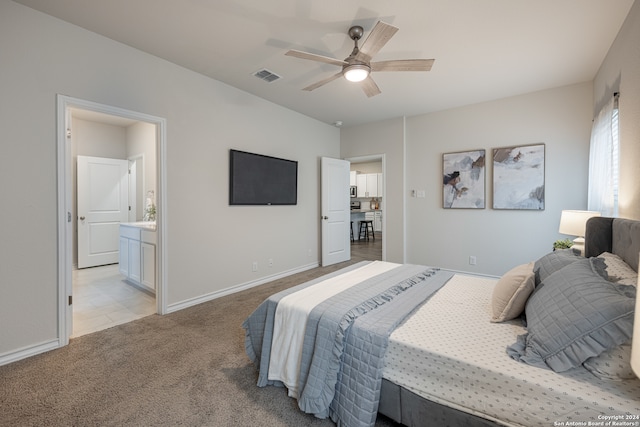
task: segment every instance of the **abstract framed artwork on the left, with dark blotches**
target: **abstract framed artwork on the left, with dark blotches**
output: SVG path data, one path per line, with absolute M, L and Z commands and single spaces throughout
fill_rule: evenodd
M 444 209 L 484 209 L 485 150 L 442 155 Z

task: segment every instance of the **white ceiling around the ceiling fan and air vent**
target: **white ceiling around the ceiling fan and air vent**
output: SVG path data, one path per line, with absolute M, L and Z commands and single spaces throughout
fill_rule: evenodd
M 634 0 L 15 0 L 326 123 L 352 126 L 591 81 Z M 339 71 L 285 56 L 346 58 L 347 31 L 400 30 L 374 60 L 435 58 L 379 72 L 367 98 Z M 253 76 L 266 68 L 282 78 Z

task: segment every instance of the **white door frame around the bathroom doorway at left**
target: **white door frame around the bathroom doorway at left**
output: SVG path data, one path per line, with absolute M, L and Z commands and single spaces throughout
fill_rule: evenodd
M 166 240 L 167 198 L 166 198 L 166 119 L 144 113 L 125 110 L 105 104 L 58 94 L 57 103 L 57 200 L 58 200 L 58 346 L 69 344 L 73 325 L 72 270 L 72 174 L 73 157 L 71 152 L 70 122 L 72 108 L 95 111 L 113 116 L 120 116 L 136 121 L 151 123 L 156 126 L 156 162 L 157 162 L 157 195 L 156 219 L 157 233 L 157 265 L 156 265 L 156 312 L 167 313 L 167 262 Z

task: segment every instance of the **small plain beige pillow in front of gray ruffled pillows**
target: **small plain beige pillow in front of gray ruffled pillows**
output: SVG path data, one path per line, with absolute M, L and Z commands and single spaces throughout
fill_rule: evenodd
M 493 288 L 491 321 L 504 322 L 520 316 L 524 311 L 527 298 L 534 289 L 533 262 L 507 271 Z

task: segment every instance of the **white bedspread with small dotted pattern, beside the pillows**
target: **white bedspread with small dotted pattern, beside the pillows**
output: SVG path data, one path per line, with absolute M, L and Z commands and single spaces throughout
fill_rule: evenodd
M 624 418 L 640 416 L 640 380 L 599 380 L 584 368 L 558 374 L 509 358 L 505 348 L 525 331 L 518 321 L 489 322 L 496 281 L 455 275 L 393 332 L 383 377 L 509 426 L 640 421 Z

